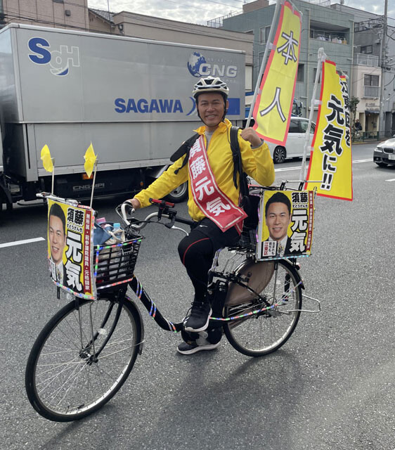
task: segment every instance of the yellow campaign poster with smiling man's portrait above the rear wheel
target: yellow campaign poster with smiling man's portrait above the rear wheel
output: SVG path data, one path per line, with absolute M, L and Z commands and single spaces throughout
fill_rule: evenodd
M 313 191 L 264 191 L 259 207 L 257 259 L 310 255 Z

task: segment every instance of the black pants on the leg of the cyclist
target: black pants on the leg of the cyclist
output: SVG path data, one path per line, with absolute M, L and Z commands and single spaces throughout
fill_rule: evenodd
M 235 227 L 222 232 L 214 222 L 203 219 L 179 243 L 181 262 L 195 288 L 195 300 L 204 301 L 207 294 L 208 271 L 219 248 L 235 245 L 239 240 Z

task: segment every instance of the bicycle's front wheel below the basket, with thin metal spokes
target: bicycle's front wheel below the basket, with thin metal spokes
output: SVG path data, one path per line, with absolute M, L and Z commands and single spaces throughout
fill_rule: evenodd
M 140 342 L 141 319 L 129 302 L 73 300 L 34 342 L 25 373 L 30 403 L 49 420 L 88 416 L 123 385 Z

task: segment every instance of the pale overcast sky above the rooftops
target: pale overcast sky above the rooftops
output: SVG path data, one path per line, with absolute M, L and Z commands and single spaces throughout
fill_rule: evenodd
M 107 11 L 109 6 L 113 13 L 131 11 L 132 13 L 202 25 L 207 25 L 207 20 L 229 13 L 241 13 L 244 3 L 250 3 L 250 0 L 88 0 L 89 8 Z M 339 1 L 332 0 L 332 4 L 335 3 L 339 3 Z M 384 0 L 344 0 L 344 5 L 370 13 L 384 14 Z M 388 16 L 395 18 L 394 0 L 388 0 Z

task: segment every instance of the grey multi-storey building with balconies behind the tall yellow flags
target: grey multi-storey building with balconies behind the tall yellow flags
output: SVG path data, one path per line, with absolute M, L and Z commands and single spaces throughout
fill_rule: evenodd
M 337 69 L 351 77 L 354 15 L 328 8 L 329 2 L 314 4 L 293 0 L 302 13 L 301 51 L 295 98 L 302 101 L 302 114 L 309 116 L 313 85 L 316 78 L 318 49 L 323 47 L 329 60 Z M 224 17 L 220 21 L 224 30 L 234 30 L 254 35 L 254 68 L 252 84 L 256 84 L 259 68 L 266 49 L 268 33 L 273 20 L 275 5 L 267 0 L 257 0 L 243 6 L 243 13 Z M 215 22 L 219 23 L 218 20 Z M 318 91 L 319 92 L 319 91 Z M 316 108 L 315 108 L 316 109 Z M 315 110 L 314 117 L 316 117 Z

